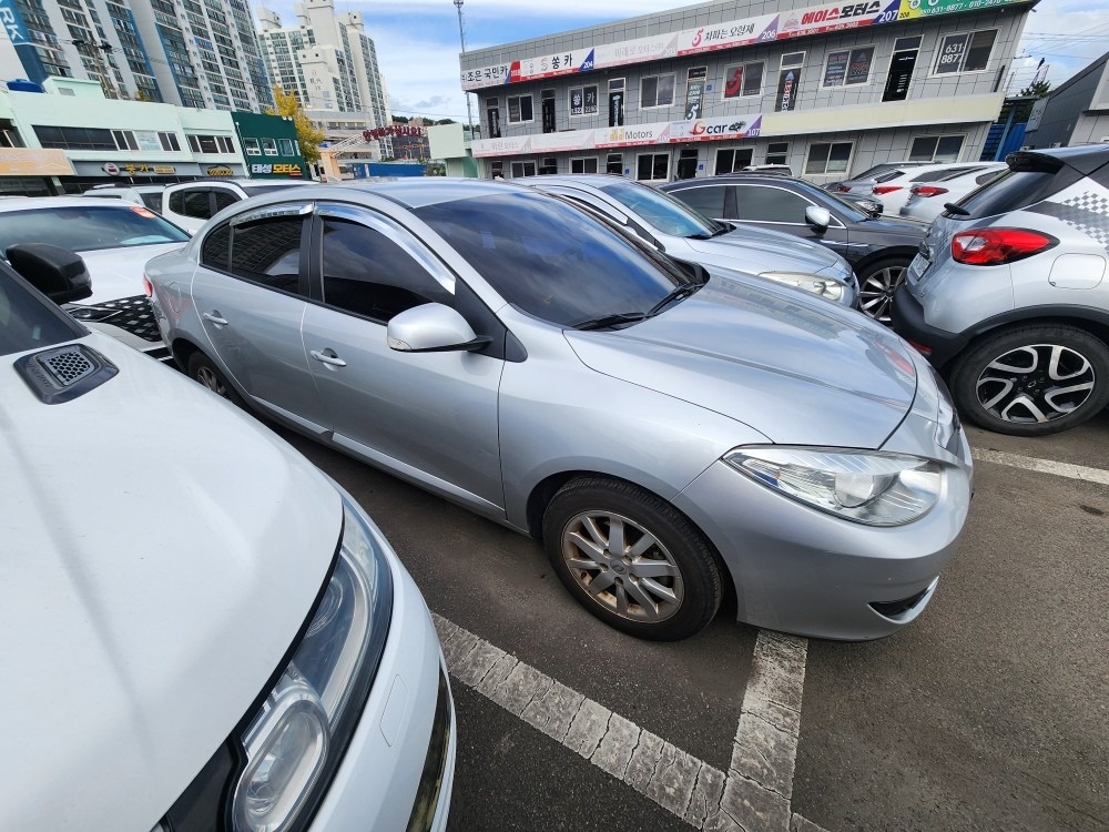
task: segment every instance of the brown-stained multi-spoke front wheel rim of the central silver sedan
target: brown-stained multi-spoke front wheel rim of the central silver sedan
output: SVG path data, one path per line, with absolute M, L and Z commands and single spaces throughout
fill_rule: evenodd
M 583 511 L 562 530 L 562 557 L 578 585 L 609 612 L 658 623 L 685 593 L 673 556 L 650 531 L 621 515 Z

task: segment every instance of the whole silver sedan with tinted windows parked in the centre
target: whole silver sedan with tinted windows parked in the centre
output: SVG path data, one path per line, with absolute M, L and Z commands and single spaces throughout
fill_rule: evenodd
M 945 392 L 863 315 L 692 271 L 446 179 L 256 197 L 147 264 L 190 376 L 541 539 L 613 627 L 691 636 L 729 582 L 756 626 L 899 629 L 967 514 Z

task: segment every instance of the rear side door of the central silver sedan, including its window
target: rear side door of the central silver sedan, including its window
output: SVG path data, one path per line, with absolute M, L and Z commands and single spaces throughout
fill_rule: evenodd
M 271 205 L 207 232 L 192 297 L 216 358 L 263 407 L 315 433 L 325 417 L 301 339 L 312 203 Z

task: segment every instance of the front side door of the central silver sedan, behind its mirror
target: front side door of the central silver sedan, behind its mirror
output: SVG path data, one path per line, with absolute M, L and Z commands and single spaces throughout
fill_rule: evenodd
M 414 306 L 440 303 L 461 312 L 468 287 L 381 212 L 322 204 L 315 213 L 318 255 L 304 348 L 334 442 L 424 486 L 499 511 L 503 359 L 465 351 L 397 352 L 386 338 L 389 318 Z

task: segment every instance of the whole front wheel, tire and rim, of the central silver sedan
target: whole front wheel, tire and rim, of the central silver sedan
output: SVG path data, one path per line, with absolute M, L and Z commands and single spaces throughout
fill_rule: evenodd
M 590 535 L 596 560 L 582 557 L 573 544 L 574 534 L 590 528 L 597 532 Z M 621 556 L 608 550 L 613 532 L 622 540 Z M 637 544 L 644 548 L 638 550 Z M 722 568 L 704 537 L 669 503 L 628 483 L 599 477 L 567 483 L 543 515 L 543 547 L 570 593 L 631 636 L 689 638 L 720 608 Z M 569 561 L 576 556 L 591 566 L 574 568 Z M 602 582 L 597 591 L 587 588 Z

